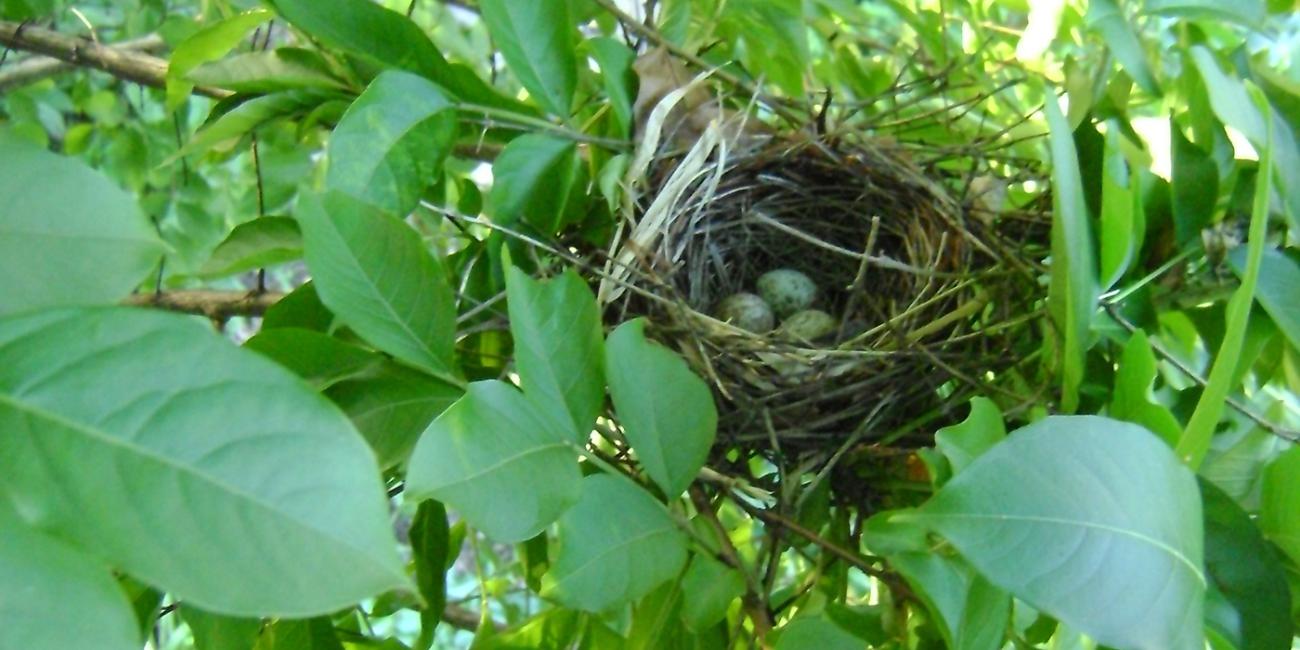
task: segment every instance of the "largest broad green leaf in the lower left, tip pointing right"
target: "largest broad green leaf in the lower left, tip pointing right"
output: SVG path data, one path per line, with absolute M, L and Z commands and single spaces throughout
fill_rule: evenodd
M 0 432 L 20 515 L 186 603 L 308 616 L 408 585 L 356 430 L 202 321 L 0 320 Z

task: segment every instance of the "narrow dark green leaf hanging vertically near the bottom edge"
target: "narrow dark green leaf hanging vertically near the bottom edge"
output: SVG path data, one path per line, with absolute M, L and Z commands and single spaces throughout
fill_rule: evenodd
M 447 563 L 452 559 L 450 534 L 447 508 L 432 499 L 421 502 L 411 520 L 415 584 L 425 602 L 420 610 L 420 638 L 415 650 L 433 647 L 433 630 L 447 606 Z

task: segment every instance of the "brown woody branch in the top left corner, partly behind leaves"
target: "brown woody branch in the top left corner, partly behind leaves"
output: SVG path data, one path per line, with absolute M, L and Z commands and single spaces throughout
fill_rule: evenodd
M 95 68 L 118 79 L 126 79 L 142 86 L 162 88 L 166 86 L 166 60 L 144 52 L 101 46 L 83 38 L 69 36 L 57 31 L 0 21 L 0 46 L 23 52 L 35 52 L 60 61 Z M 208 98 L 228 98 L 230 91 L 196 86 L 194 92 Z

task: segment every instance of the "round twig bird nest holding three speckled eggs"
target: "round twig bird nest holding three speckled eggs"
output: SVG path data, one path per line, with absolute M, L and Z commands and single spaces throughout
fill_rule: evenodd
M 644 188 L 624 205 L 601 290 L 611 318 L 646 316 L 712 386 L 719 450 L 928 445 L 918 422 L 953 420 L 963 391 L 987 391 L 1022 358 L 1041 291 L 1019 248 L 1045 242 L 1045 221 L 1008 237 L 954 199 L 959 182 L 888 142 L 731 152 L 731 140 L 711 129 L 685 153 L 633 161 Z M 772 269 L 814 281 L 832 333 L 809 341 L 719 317 L 723 299 Z

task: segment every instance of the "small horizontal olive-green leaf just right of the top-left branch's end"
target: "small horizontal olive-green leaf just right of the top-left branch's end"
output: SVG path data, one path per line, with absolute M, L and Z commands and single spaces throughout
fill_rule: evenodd
M 235 92 L 278 92 L 295 88 L 342 91 L 347 87 L 334 78 L 320 55 L 295 48 L 235 55 L 200 65 L 190 70 L 186 78 L 200 86 Z

